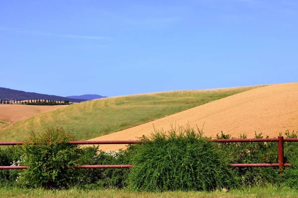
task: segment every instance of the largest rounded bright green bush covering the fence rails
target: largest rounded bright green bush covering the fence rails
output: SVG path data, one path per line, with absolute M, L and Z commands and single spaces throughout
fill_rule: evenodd
M 149 141 L 147 137 L 143 140 Z M 198 130 L 172 128 L 129 148 L 135 165 L 129 185 L 139 191 L 211 191 L 237 186 L 228 158 Z

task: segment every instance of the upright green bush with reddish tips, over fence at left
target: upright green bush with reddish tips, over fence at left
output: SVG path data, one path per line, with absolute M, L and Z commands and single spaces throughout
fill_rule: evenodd
M 19 184 L 24 187 L 63 189 L 72 186 L 74 168 L 79 158 L 79 148 L 69 145 L 74 141 L 71 132 L 63 128 L 34 132 L 25 140 L 22 165 L 29 166 L 21 172 Z

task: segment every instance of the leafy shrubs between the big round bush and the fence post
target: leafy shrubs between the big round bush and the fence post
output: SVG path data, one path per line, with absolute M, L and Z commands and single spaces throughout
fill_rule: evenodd
M 230 135 L 217 135 L 217 139 L 230 139 Z M 263 138 L 255 134 L 256 139 Z M 266 137 L 268 138 L 268 137 Z M 233 138 L 232 138 L 233 139 Z M 246 139 L 240 135 L 240 139 Z M 276 142 L 258 143 L 219 143 L 219 149 L 229 156 L 229 163 L 278 163 L 278 147 Z M 273 167 L 233 168 L 241 186 L 279 184 L 279 169 Z

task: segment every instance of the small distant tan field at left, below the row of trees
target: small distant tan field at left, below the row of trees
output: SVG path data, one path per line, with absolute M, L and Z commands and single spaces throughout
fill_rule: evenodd
M 5 122 L 15 122 L 61 107 L 64 107 L 64 105 L 36 106 L 21 104 L 0 104 L 0 120 Z

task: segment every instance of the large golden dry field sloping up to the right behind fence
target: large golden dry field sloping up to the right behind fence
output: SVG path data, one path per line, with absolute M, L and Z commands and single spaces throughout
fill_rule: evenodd
M 223 131 L 233 137 L 255 132 L 277 137 L 286 130 L 298 131 L 298 83 L 270 85 L 209 102 L 158 120 L 91 140 L 138 140 L 155 129 L 171 124 L 203 128 L 206 136 Z M 118 150 L 125 145 L 101 145 L 102 150 Z

